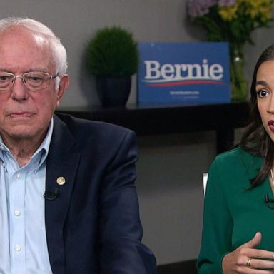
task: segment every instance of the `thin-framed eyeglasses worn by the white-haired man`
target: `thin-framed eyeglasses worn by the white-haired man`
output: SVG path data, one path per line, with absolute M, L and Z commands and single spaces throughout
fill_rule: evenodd
M 40 89 L 48 88 L 49 81 L 59 76 L 49 75 L 46 72 L 26 72 L 21 76 L 16 76 L 14 73 L 0 72 L 0 91 L 10 90 L 14 86 L 14 81 L 16 78 L 21 78 L 24 86 L 29 89 L 29 91 L 38 91 Z

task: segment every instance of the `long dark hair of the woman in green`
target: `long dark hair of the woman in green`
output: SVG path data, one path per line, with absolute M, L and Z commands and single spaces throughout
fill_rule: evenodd
M 251 180 L 251 188 L 255 188 L 263 183 L 270 172 L 274 160 L 273 141 L 263 127 L 260 113 L 258 111 L 256 93 L 258 68 L 263 64 L 263 62 L 270 60 L 274 60 L 274 44 L 268 46 L 268 48 L 263 51 L 255 65 L 250 88 L 250 123 L 248 128 L 246 128 L 245 133 L 243 133 L 239 144 L 241 148 L 253 156 L 261 156 L 263 158 L 263 164 L 258 175 Z

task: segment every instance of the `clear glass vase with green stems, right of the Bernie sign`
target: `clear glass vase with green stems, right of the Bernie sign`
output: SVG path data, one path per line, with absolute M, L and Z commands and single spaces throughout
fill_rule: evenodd
M 242 47 L 230 51 L 231 100 L 245 101 L 248 93 L 248 83 L 245 81 Z

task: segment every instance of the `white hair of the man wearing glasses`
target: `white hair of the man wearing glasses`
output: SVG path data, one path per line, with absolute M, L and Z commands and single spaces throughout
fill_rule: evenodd
M 46 41 L 49 41 L 51 54 L 53 55 L 54 63 L 56 66 L 56 73 L 59 73 L 59 76 L 62 76 L 66 73 L 66 69 L 68 68 L 66 61 L 66 49 L 63 44 L 61 44 L 60 39 L 54 34 L 53 31 L 51 31 L 51 29 L 34 19 L 8 17 L 0 20 L 0 34 L 1 32 L 6 31 L 13 26 L 24 26 L 34 33 L 43 36 Z

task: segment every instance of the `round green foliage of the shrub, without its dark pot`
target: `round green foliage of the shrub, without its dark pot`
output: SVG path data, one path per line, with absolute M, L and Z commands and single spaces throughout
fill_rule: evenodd
M 131 32 L 119 26 L 96 31 L 87 46 L 88 68 L 94 76 L 125 77 L 138 69 L 138 47 Z

